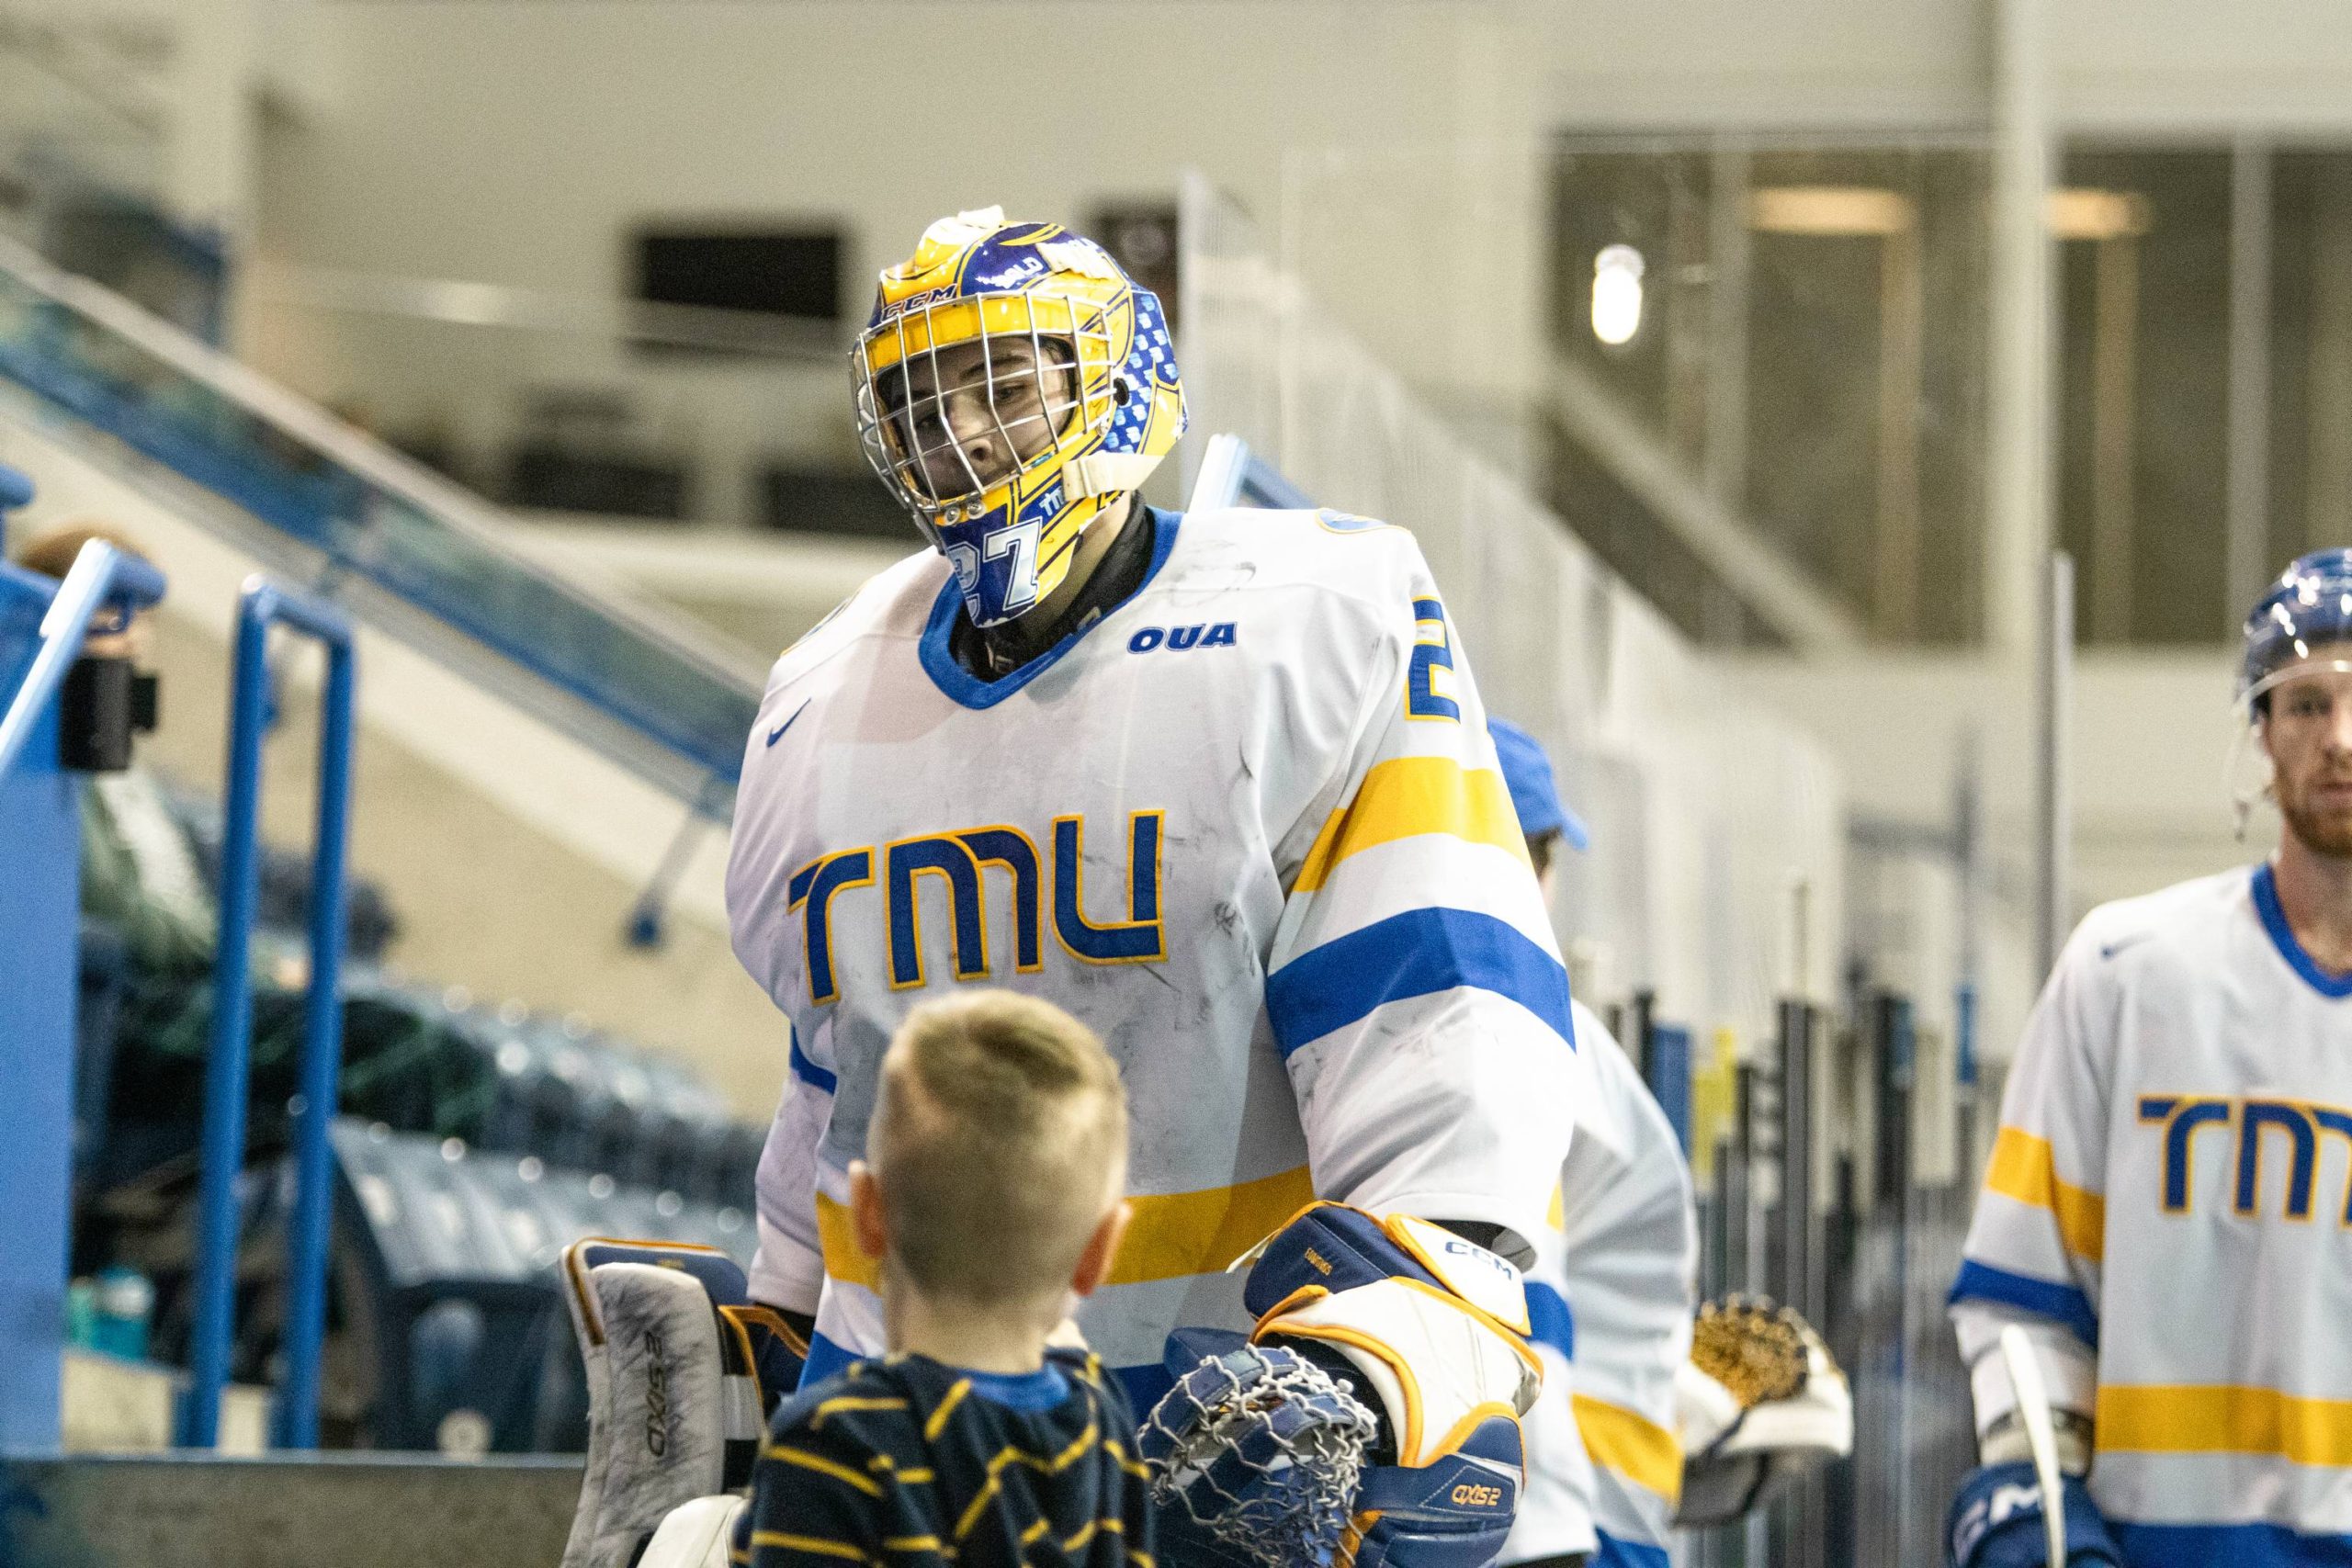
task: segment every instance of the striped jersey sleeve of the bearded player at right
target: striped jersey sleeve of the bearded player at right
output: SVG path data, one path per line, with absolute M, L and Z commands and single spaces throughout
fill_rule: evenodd
M 2098 1006 L 2100 943 L 2067 943 L 2025 1023 L 2002 1124 L 1952 1281 L 1952 1324 L 1976 1387 L 1978 1429 L 2016 1408 L 1999 1331 L 2023 1324 L 2051 1401 L 2093 1408 L 2107 1199 L 2107 1063 Z

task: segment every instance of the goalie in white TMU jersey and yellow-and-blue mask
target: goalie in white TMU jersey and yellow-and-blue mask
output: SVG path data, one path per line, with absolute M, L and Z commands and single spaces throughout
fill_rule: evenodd
M 734 947 L 793 1034 L 755 1295 L 814 1309 L 811 1378 L 882 1347 L 842 1208 L 882 1046 L 943 987 L 1049 997 L 1129 1086 L 1134 1222 L 1077 1319 L 1138 1408 L 1178 1326 L 1331 1347 L 1385 1418 L 1359 1568 L 1491 1561 L 1541 1378 L 1508 1258 L 1578 1065 L 1411 534 L 1145 508 L 1183 428 L 1167 324 L 1058 226 L 931 226 L 854 381 L 934 552 L 779 661 L 746 752 Z

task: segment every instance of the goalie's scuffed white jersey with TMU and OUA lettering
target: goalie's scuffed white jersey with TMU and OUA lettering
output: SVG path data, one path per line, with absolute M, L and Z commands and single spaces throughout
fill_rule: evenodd
M 1150 520 L 1143 585 L 1000 682 L 950 656 L 936 555 L 769 677 L 727 905 L 793 1027 L 753 1288 L 816 1305 L 811 1373 L 882 1349 L 847 1168 L 891 1032 L 953 985 L 1047 997 L 1120 1060 L 1134 1220 L 1080 1326 L 1138 1396 L 1169 1328 L 1249 1326 L 1221 1269 L 1317 1194 L 1543 1229 L 1566 971 L 1418 545 Z

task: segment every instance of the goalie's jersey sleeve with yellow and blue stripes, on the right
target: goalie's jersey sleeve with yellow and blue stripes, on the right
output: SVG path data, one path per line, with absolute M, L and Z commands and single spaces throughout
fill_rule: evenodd
M 1486 712 L 1409 536 L 1268 954 L 1315 1187 L 1538 1234 L 1576 1114 L 1569 978 Z

